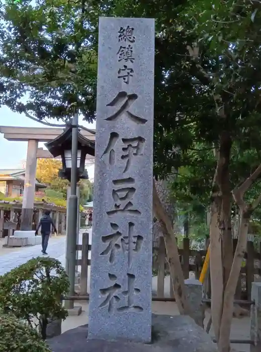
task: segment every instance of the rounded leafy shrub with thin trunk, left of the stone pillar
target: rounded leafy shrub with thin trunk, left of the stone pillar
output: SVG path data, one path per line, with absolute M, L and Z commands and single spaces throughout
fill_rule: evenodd
M 0 277 L 0 308 L 40 327 L 46 338 L 48 319 L 65 319 L 61 296 L 69 289 L 61 263 L 52 258 L 32 258 Z

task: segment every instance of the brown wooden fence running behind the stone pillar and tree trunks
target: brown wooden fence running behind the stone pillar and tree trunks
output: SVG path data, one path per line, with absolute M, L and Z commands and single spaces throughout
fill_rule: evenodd
M 237 244 L 237 239 L 233 240 L 233 248 L 235 250 Z M 77 250 L 81 251 L 81 259 L 77 259 L 76 266 L 80 266 L 80 296 L 87 294 L 87 281 L 88 281 L 88 266 L 91 265 L 91 260 L 88 259 L 89 251 L 91 251 L 92 246 L 89 244 L 89 234 L 83 233 L 82 244 L 76 246 Z M 251 241 L 247 242 L 247 248 L 244 255 L 244 263 L 242 263 L 240 278 L 238 280 L 238 285 L 236 289 L 236 299 L 247 299 L 250 300 L 251 297 L 251 283 L 254 282 L 254 275 L 261 275 L 261 260 L 260 251 L 254 250 L 254 244 Z M 153 248 L 153 253 L 156 252 L 156 260 L 153 265 L 153 274 L 157 276 L 157 294 L 156 297 L 159 299 L 164 298 L 164 283 L 165 276 L 168 274 L 168 263 L 166 260 L 165 244 L 162 237 L 159 239 L 159 245 L 157 248 Z M 188 279 L 190 273 L 194 273 L 194 277 L 199 279 L 202 270 L 204 257 L 206 255 L 206 250 L 194 250 L 190 248 L 190 239 L 183 238 L 183 248 L 179 248 L 180 260 L 182 263 L 184 278 Z M 169 278 L 170 280 L 170 278 Z M 169 297 L 173 298 L 172 285 L 169 285 L 170 292 Z M 204 283 L 205 292 L 208 298 L 211 297 L 210 288 L 210 275 Z

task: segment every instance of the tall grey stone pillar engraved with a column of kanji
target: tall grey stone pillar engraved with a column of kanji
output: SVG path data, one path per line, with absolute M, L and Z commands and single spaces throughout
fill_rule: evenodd
M 89 339 L 151 340 L 154 38 L 100 18 Z

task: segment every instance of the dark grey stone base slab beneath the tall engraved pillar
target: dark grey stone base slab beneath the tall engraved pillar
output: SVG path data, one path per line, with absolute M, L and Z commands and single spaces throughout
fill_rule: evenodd
M 47 343 L 53 352 L 217 352 L 211 337 L 189 316 L 152 314 L 151 344 L 87 337 L 88 325 L 82 325 Z

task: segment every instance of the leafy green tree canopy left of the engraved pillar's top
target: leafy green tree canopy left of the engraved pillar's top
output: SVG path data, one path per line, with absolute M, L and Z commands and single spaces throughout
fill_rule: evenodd
M 1 2 L 0 106 L 42 122 L 76 106 L 92 122 L 98 12 L 84 0 Z

